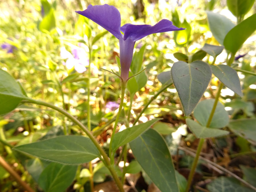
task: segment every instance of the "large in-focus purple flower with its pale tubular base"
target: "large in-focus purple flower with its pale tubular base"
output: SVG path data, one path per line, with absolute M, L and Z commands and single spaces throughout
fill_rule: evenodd
M 120 12 L 108 4 L 89 5 L 84 11 L 76 11 L 78 14 L 87 17 L 112 33 L 119 39 L 121 78 L 124 82 L 128 80 L 129 69 L 132 62 L 132 54 L 135 42 L 153 33 L 183 30 L 172 25 L 172 21 L 163 19 L 156 25 L 132 25 L 125 24 L 121 27 Z M 124 35 L 120 32 L 122 31 Z

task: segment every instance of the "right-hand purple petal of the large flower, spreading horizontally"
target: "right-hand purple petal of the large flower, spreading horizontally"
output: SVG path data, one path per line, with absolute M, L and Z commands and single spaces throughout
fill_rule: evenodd
M 138 41 L 145 36 L 148 36 L 153 33 L 162 33 L 167 31 L 178 31 L 183 30 L 184 28 L 178 28 L 172 25 L 172 21 L 163 19 L 156 23 L 156 25 L 132 25 L 132 24 L 125 24 L 122 26 L 124 31 L 124 40 L 127 38 L 131 38 L 133 41 Z

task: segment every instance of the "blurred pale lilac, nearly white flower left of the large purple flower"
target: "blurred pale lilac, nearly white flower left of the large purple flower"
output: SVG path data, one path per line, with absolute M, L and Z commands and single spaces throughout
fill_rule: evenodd
M 86 71 L 85 67 L 89 65 L 89 60 L 86 57 L 87 53 L 84 49 L 75 48 L 72 50 L 72 54 L 68 52 L 65 47 L 60 48 L 60 56 L 62 59 L 67 59 L 64 65 L 66 65 L 68 69 L 75 67 L 78 73 Z

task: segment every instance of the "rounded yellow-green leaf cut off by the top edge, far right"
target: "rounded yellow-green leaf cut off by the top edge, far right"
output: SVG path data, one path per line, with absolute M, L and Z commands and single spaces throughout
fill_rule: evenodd
M 245 15 L 254 4 L 255 0 L 227 0 L 228 9 L 236 17 Z

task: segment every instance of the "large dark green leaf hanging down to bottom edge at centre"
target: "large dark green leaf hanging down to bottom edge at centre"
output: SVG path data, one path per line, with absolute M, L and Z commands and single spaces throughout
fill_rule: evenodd
M 170 151 L 158 132 L 148 129 L 130 142 L 130 147 L 143 170 L 161 191 L 179 191 Z

